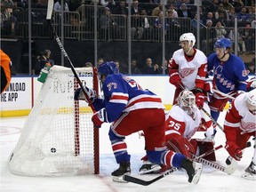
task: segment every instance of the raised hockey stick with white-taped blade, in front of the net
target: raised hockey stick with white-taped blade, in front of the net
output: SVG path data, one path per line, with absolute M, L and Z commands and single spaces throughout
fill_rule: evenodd
M 68 57 L 68 53 L 65 51 L 63 45 L 61 44 L 60 42 L 60 37 L 57 35 L 56 31 L 54 30 L 54 28 L 52 28 L 52 23 L 51 23 L 51 20 L 52 20 L 52 10 L 53 10 L 53 4 L 54 4 L 54 0 L 48 0 L 48 7 L 47 7 L 47 14 L 46 14 L 46 21 L 48 23 L 48 25 L 50 26 L 51 30 L 52 30 L 52 34 L 53 36 L 55 37 L 55 40 L 57 42 L 57 44 L 59 45 L 60 47 L 60 51 L 63 53 L 64 55 L 64 58 L 66 60 L 68 60 L 68 63 L 69 63 L 69 66 L 74 74 L 74 76 L 76 77 L 76 81 L 77 83 L 80 85 L 81 87 L 81 90 L 82 92 L 84 93 L 84 96 L 89 104 L 89 106 L 92 108 L 92 112 L 95 113 L 96 110 L 94 108 L 94 106 L 92 105 L 92 101 L 90 100 L 89 96 L 88 96 L 88 92 L 86 89 L 84 89 L 84 86 L 79 78 L 79 76 L 77 75 L 76 73 L 76 70 L 75 70 L 75 67 L 72 63 L 72 61 L 70 60 L 70 58 Z

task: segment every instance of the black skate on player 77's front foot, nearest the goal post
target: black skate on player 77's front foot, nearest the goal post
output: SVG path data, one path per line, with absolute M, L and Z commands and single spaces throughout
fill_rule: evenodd
M 111 175 L 113 176 L 112 180 L 115 182 L 127 182 L 123 180 L 123 176 L 125 174 L 130 175 L 131 174 L 131 167 L 130 162 L 122 162 L 119 164 L 119 168 L 112 172 Z

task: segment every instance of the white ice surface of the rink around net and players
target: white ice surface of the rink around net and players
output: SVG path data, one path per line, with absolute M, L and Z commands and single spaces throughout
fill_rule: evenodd
M 246 148 L 244 157 L 238 163 L 234 174 L 228 175 L 224 172 L 214 170 L 204 165 L 201 180 L 197 185 L 188 183 L 185 172 L 178 171 L 164 177 L 148 187 L 133 183 L 116 183 L 111 180 L 111 172 L 116 170 L 117 164 L 110 142 L 108 140 L 108 124 L 100 129 L 100 175 L 84 175 L 76 177 L 23 177 L 13 175 L 8 169 L 8 156 L 19 140 L 20 132 L 27 116 L 15 118 L 1 118 L 0 144 L 1 144 L 1 192 L 255 192 L 256 181 L 241 178 L 246 167 L 252 161 L 254 149 Z M 224 114 L 220 116 L 219 123 L 223 124 Z M 197 138 L 203 138 L 203 134 L 197 133 Z M 216 146 L 225 145 L 223 132 L 218 130 Z M 144 156 L 144 140 L 134 133 L 126 138 L 128 151 L 132 155 L 132 175 L 138 176 L 141 165 L 140 158 Z M 252 142 L 252 140 L 251 140 Z M 254 142 L 252 142 L 254 144 Z M 226 165 L 228 156 L 225 148 L 216 151 L 217 163 Z M 152 180 L 158 175 L 139 176 L 144 180 Z

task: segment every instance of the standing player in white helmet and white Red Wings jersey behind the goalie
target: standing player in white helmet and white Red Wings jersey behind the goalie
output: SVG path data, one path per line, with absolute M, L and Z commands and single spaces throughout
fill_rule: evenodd
M 188 89 L 196 95 L 196 106 L 204 107 L 208 113 L 210 108 L 205 97 L 205 76 L 207 72 L 207 57 L 204 52 L 194 48 L 196 37 L 192 33 L 185 33 L 180 36 L 181 49 L 174 52 L 169 60 L 169 82 L 176 87 L 172 104 L 176 104 L 177 97 L 183 89 Z M 208 90 L 207 90 L 208 91 Z M 207 132 L 209 136 L 213 133 L 212 120 L 201 112 L 204 129 L 212 130 Z

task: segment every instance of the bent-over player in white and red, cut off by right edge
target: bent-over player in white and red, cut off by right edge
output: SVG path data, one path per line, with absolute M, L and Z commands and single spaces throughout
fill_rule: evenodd
M 244 92 L 232 101 L 224 121 L 226 149 L 230 156 L 240 161 L 247 141 L 256 136 L 256 89 Z M 255 148 L 255 146 L 254 146 Z M 252 163 L 245 170 L 244 178 L 256 180 L 256 149 Z

